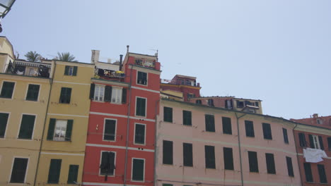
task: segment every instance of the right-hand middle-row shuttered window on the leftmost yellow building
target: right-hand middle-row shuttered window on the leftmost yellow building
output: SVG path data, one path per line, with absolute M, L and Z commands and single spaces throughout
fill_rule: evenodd
M 35 126 L 35 116 L 23 114 L 21 120 L 21 128 L 18 133 L 18 139 L 30 140 L 33 136 L 33 128 Z

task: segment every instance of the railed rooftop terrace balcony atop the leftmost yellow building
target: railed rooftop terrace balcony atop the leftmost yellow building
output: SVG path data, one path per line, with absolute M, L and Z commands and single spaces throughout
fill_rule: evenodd
M 50 78 L 51 65 L 28 61 L 14 61 L 6 65 L 5 73 Z

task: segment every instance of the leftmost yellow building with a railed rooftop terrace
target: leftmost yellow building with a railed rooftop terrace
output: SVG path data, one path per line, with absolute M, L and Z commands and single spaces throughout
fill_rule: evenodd
M 0 37 L 0 185 L 33 185 L 52 62 L 15 60 Z

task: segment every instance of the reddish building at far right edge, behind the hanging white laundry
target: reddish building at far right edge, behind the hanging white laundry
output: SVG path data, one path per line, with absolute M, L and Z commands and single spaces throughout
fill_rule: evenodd
M 302 185 L 331 185 L 331 116 L 318 117 L 315 113 L 313 118 L 291 120 L 303 124 L 294 128 Z M 327 158 L 312 162 L 303 156 L 307 148 L 324 151 Z

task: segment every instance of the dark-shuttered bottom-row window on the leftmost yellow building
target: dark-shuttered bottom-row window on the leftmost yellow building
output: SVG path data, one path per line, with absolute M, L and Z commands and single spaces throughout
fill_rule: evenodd
M 15 158 L 11 171 L 11 182 L 24 183 L 28 159 Z

